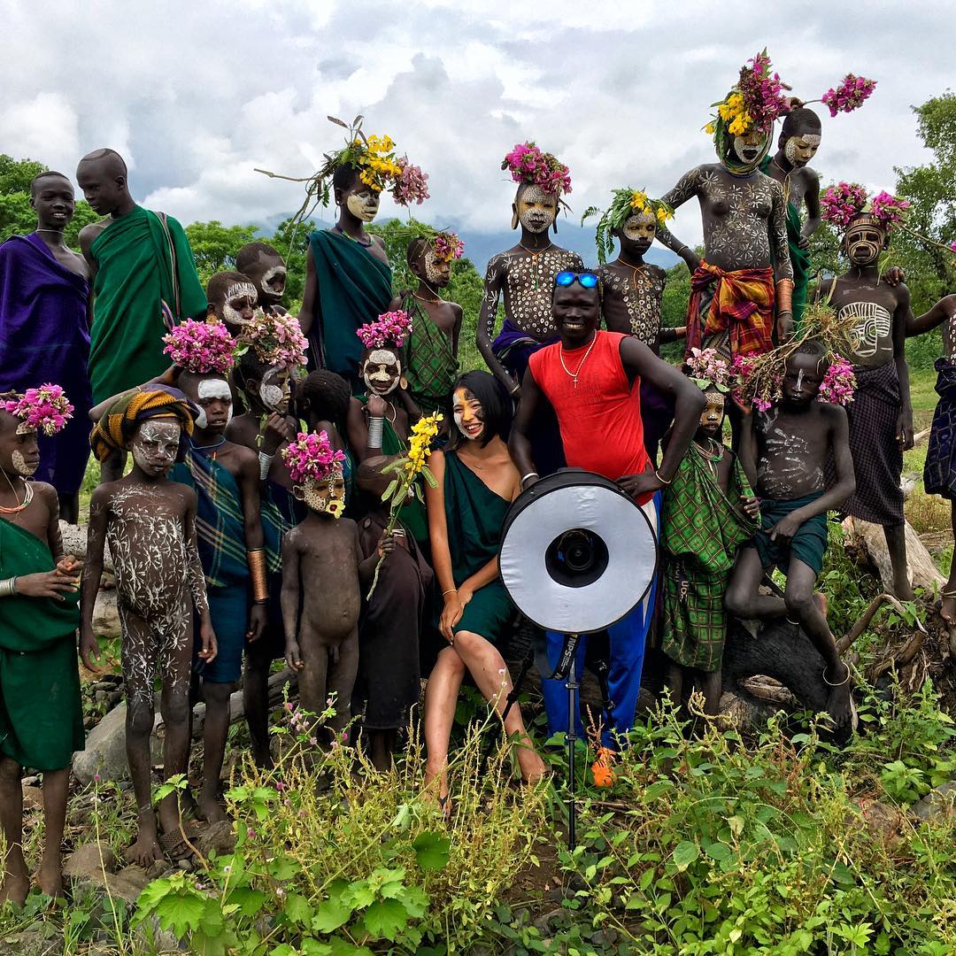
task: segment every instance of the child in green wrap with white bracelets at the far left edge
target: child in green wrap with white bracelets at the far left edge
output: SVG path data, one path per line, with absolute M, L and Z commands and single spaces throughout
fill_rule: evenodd
M 58 896 L 70 763 L 73 751 L 83 750 L 76 561 L 63 554 L 56 490 L 29 480 L 40 464 L 29 405 L 23 395 L 0 395 L 0 823 L 6 843 L 0 902 L 18 904 L 30 891 L 23 768 L 43 772 L 44 849 L 36 881 L 43 893 Z

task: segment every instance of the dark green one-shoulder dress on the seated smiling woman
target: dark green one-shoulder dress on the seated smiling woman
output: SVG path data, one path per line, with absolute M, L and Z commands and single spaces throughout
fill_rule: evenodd
M 501 530 L 511 502 L 495 494 L 454 451 L 445 452 L 445 518 L 448 528 L 448 553 L 451 575 L 459 587 L 493 557 L 501 544 Z M 404 512 L 402 511 L 402 514 Z M 437 591 L 437 589 L 436 589 Z M 444 596 L 436 594 L 435 626 L 442 616 Z M 465 605 L 465 612 L 454 626 L 459 631 L 480 634 L 497 643 L 514 617 L 511 597 L 496 577 L 479 588 Z

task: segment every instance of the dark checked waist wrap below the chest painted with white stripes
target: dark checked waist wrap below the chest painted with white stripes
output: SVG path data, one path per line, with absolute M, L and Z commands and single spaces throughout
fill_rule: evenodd
M 857 490 L 842 511 L 877 525 L 902 525 L 902 448 L 897 421 L 902 402 L 895 361 L 855 368 L 857 391 L 846 406 Z

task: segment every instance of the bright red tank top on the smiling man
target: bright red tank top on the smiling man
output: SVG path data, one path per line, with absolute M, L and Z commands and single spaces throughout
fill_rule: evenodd
M 622 338 L 619 332 L 598 330 L 587 359 L 587 345 L 562 353 L 555 342 L 535 352 L 530 362 L 535 382 L 554 407 L 568 465 L 612 481 L 640 474 L 650 462 L 641 423 L 641 380 L 627 380 Z M 565 368 L 577 373 L 576 385 L 561 367 L 562 358 Z

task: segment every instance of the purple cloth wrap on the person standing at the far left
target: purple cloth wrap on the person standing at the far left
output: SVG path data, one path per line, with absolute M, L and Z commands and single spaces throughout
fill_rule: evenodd
M 0 245 L 0 391 L 51 382 L 73 403 L 58 435 L 39 436 L 35 479 L 61 494 L 79 490 L 90 455 L 88 299 L 86 280 L 61 266 L 35 232 Z

